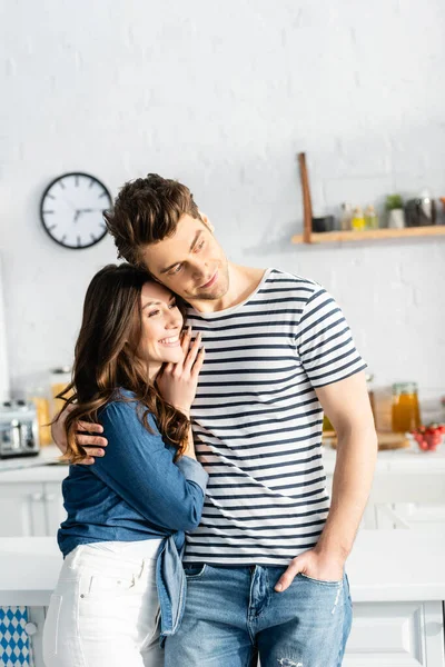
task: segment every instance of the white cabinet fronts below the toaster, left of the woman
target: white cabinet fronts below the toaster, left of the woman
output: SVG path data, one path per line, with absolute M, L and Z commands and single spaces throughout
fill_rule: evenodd
M 1 482 L 0 508 L 0 537 L 56 536 L 66 518 L 57 481 Z

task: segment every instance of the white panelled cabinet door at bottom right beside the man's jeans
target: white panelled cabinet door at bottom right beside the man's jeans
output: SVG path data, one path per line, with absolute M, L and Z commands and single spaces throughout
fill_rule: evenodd
M 444 667 L 442 603 L 354 605 L 344 667 Z

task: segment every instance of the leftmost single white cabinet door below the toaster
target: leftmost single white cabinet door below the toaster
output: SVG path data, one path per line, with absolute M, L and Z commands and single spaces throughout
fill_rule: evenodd
M 0 484 L 0 537 L 47 535 L 43 485 Z

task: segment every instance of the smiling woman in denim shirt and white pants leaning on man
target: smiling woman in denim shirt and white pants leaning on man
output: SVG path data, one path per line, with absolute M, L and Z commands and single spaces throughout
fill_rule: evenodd
M 43 630 L 47 667 L 160 667 L 159 638 L 180 623 L 179 554 L 208 479 L 189 421 L 204 349 L 190 330 L 181 339 L 182 326 L 174 295 L 130 265 L 105 267 L 88 288 L 65 392 L 66 458 L 85 459 L 80 420 L 99 420 L 109 445 L 93 466 L 71 465 L 62 485 L 65 561 Z

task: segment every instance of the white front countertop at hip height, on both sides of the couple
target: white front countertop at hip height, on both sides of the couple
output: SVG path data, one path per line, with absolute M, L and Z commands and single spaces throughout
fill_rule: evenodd
M 445 600 L 445 529 L 363 530 L 347 561 L 355 603 Z M 47 606 L 62 557 L 52 537 L 0 539 L 0 606 Z

